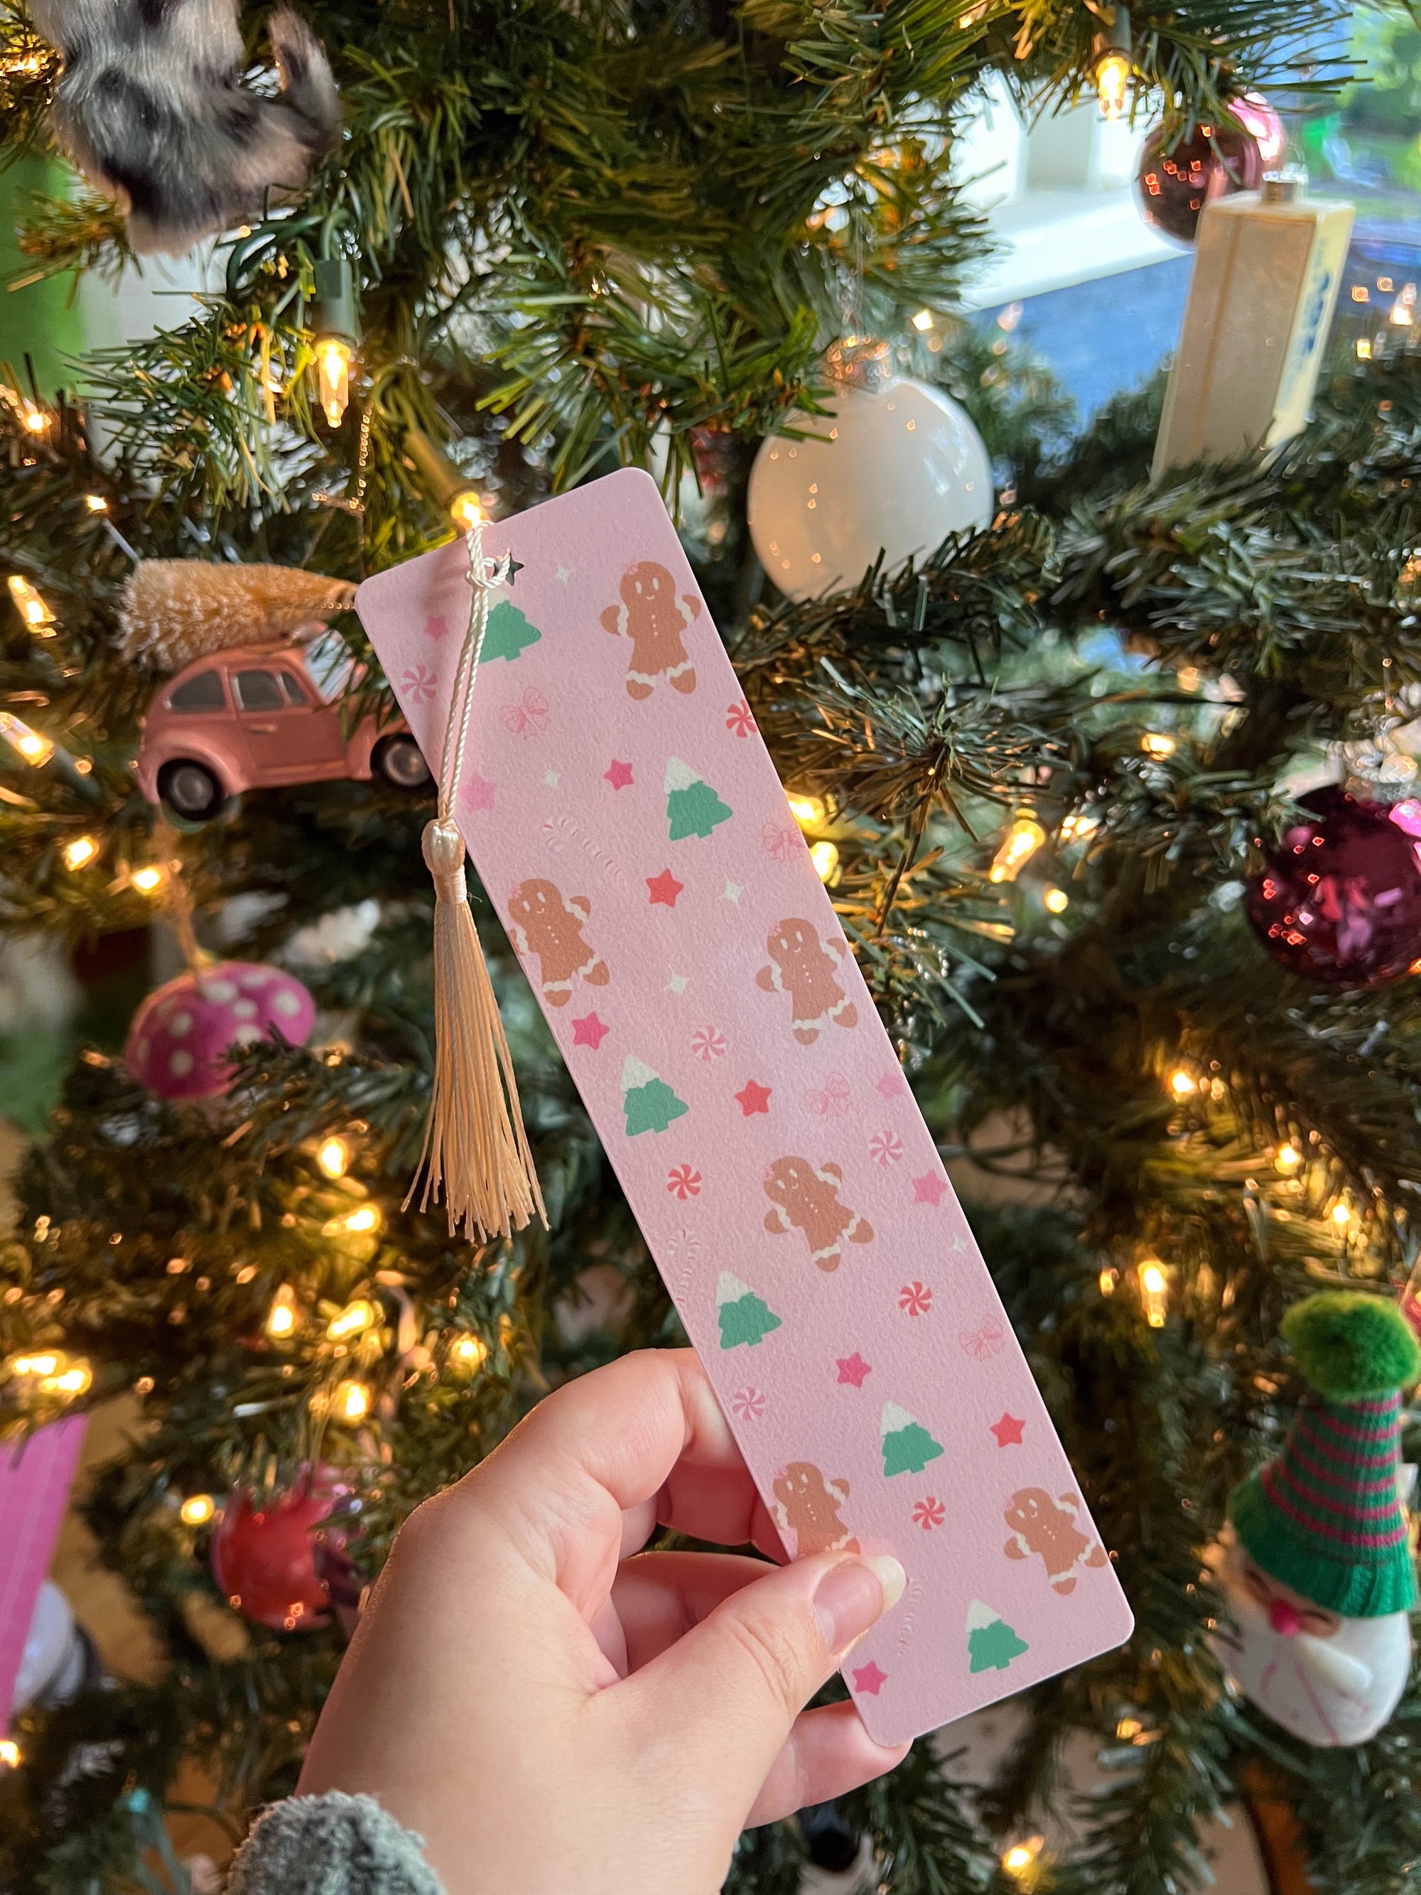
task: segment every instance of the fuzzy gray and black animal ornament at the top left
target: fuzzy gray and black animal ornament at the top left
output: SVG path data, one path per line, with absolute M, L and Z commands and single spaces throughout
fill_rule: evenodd
M 237 0 L 32 0 L 63 53 L 55 136 L 129 220 L 135 250 L 188 250 L 299 191 L 335 142 L 326 55 L 296 13 L 271 15 L 280 91 L 241 83 Z

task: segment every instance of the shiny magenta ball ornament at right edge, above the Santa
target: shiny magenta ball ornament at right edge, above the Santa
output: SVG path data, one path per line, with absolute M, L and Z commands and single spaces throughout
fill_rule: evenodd
M 1421 961 L 1421 800 L 1341 788 L 1300 798 L 1296 822 L 1249 883 L 1258 938 L 1304 980 L 1374 987 Z

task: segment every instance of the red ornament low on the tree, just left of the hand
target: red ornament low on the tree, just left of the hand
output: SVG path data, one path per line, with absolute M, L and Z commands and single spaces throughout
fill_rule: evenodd
M 273 1632 L 309 1632 L 326 1624 L 332 1605 L 330 1580 L 333 1533 L 318 1529 L 341 1507 L 349 1488 L 318 1469 L 290 1493 L 263 1507 L 250 1493 L 233 1493 L 212 1533 L 212 1577 L 227 1603 L 244 1618 Z

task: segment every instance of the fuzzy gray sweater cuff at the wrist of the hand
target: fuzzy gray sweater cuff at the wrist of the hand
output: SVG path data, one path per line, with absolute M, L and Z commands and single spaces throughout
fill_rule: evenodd
M 258 1817 L 227 1895 L 443 1895 L 424 1838 L 373 1796 L 288 1796 Z

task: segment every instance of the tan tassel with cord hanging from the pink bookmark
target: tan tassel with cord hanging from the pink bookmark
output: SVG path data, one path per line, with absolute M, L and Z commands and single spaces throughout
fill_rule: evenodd
M 434 1097 L 405 1207 L 423 1171 L 421 1211 L 443 1192 L 449 1236 L 462 1224 L 474 1241 L 495 1232 L 506 1237 L 534 1211 L 548 1226 L 508 1037 L 468 906 L 464 838 L 453 819 L 489 625 L 489 591 L 506 582 L 508 570 L 508 561 L 496 567 L 485 561 L 483 523 L 476 521 L 468 532 L 472 605 L 443 737 L 440 813 L 424 824 L 423 836 L 424 864 L 434 877 Z

